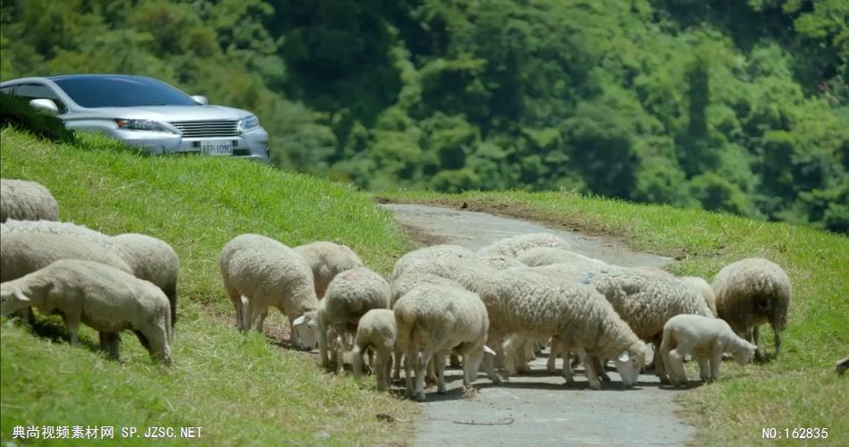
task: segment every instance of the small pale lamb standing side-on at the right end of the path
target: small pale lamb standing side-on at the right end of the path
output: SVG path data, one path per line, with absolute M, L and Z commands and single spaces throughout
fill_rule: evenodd
M 687 384 L 684 358 L 693 355 L 699 362 L 702 380 L 719 379 L 722 353 L 729 352 L 741 366 L 752 360 L 758 347 L 738 337 L 725 321 L 712 316 L 677 315 L 663 325 L 663 342 L 660 358 L 669 374 L 669 381 L 677 386 Z

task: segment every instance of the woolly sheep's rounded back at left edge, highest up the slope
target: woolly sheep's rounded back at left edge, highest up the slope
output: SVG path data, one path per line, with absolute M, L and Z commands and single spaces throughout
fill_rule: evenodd
M 40 183 L 0 179 L 0 222 L 7 219 L 59 220 L 59 204 Z

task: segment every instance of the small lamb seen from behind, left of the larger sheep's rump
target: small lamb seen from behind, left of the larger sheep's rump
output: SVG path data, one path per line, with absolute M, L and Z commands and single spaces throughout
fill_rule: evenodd
M 366 312 L 359 320 L 357 337 L 354 339 L 354 375 L 363 374 L 363 355 L 366 350 L 374 350 L 376 362 L 371 363 L 371 366 L 377 389 L 385 390 L 389 384 L 392 351 L 397 336 L 395 313 L 391 309 L 374 308 Z

